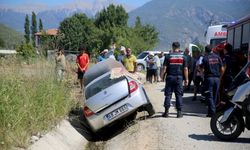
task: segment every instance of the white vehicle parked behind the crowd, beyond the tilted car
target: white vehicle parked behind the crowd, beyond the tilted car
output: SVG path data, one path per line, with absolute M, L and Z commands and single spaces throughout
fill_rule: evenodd
M 146 66 L 147 66 L 147 63 L 146 63 L 146 59 L 148 58 L 148 54 L 149 53 L 153 53 L 154 55 L 155 54 L 160 54 L 161 51 L 143 51 L 141 52 L 138 56 L 137 56 L 137 60 L 136 60 L 136 63 L 137 63 L 137 71 L 142 71 L 142 70 L 146 70 Z M 169 54 L 169 52 L 164 52 L 164 54 Z

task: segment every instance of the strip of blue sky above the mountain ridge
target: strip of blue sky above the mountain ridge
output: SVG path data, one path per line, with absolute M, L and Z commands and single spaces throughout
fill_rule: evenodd
M 1 5 L 5 6 L 16 6 L 16 5 L 26 5 L 26 4 L 45 4 L 48 6 L 57 6 L 62 4 L 67 4 L 75 1 L 84 2 L 86 0 L 0 0 Z M 88 0 L 88 1 L 95 1 L 95 0 Z M 115 0 L 118 3 L 123 3 L 126 5 L 130 5 L 133 7 L 139 7 L 150 0 Z

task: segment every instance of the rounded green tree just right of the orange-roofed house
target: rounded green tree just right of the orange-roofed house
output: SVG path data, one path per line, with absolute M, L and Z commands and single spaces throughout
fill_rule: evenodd
M 84 44 L 92 50 L 94 46 L 101 43 L 98 37 L 101 31 L 95 28 L 93 21 L 82 13 L 64 19 L 60 23 L 59 30 L 64 35 L 64 38 L 60 41 L 60 46 L 65 49 L 77 50 L 79 46 Z

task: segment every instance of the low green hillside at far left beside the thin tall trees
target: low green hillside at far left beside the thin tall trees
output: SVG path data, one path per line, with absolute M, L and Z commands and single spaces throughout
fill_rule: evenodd
M 17 45 L 24 41 L 24 37 L 21 33 L 0 24 L 0 38 L 3 39 L 5 47 L 7 49 L 14 49 Z

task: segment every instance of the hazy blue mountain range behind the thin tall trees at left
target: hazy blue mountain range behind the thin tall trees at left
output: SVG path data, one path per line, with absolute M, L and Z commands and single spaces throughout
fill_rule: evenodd
M 57 28 L 59 23 L 66 17 L 70 17 L 77 12 L 85 13 L 89 17 L 93 17 L 98 11 L 108 6 L 109 4 L 119 4 L 116 0 L 84 0 L 72 1 L 65 5 L 54 7 L 47 7 L 46 9 L 39 9 L 35 6 L 25 6 L 25 3 L 18 8 L 5 8 L 0 6 L 0 23 L 5 24 L 19 32 L 24 32 L 25 12 L 29 14 L 31 20 L 31 12 L 37 14 L 37 20 L 42 19 L 45 29 Z M 27 10 L 23 10 L 28 7 Z M 124 6 L 127 10 L 131 9 L 129 6 Z M 39 11 L 40 10 L 40 11 Z

